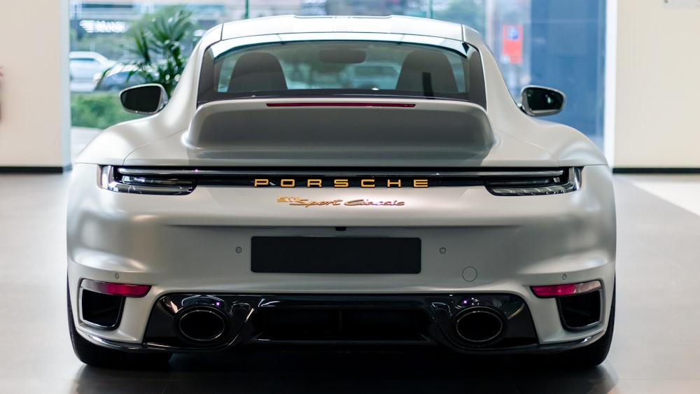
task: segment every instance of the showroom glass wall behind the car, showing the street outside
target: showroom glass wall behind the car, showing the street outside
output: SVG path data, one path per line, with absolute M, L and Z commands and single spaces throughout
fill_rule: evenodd
M 71 0 L 71 51 L 99 52 L 110 60 L 129 62 L 134 45 L 129 29 L 172 7 L 193 12 L 195 29 L 184 43 L 186 50 L 209 27 L 246 17 L 393 14 L 468 24 L 493 50 L 513 97 L 517 99 L 524 85 L 562 90 L 566 108 L 547 119 L 575 127 L 603 145 L 605 0 Z M 83 68 L 80 78 L 78 71 L 71 75 L 73 104 L 80 101 L 73 105 L 74 125 L 92 116 L 84 107 L 90 105 L 85 103 L 90 103 L 94 90 L 90 64 L 97 70 L 97 62 L 85 57 L 71 62 L 71 70 Z M 116 120 L 120 113 L 99 127 Z

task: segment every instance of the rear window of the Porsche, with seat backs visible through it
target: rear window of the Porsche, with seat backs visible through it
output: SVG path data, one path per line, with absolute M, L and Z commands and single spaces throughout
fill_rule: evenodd
M 440 97 L 486 106 L 479 52 L 381 41 L 301 41 L 205 55 L 198 104 L 246 97 Z

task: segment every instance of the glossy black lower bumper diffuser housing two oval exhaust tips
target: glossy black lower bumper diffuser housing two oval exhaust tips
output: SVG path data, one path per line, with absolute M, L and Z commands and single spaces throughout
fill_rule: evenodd
M 602 297 L 601 297 L 602 302 Z M 216 309 L 224 318 L 221 335 L 189 336 L 181 324 L 192 312 Z M 488 313 L 493 321 L 477 316 Z M 475 317 L 476 316 L 476 317 Z M 468 324 L 468 319 L 475 325 Z M 479 320 L 481 319 L 481 320 Z M 502 319 L 502 325 L 484 325 Z M 202 332 L 197 321 L 197 330 Z M 209 321 L 211 322 L 211 321 Z M 193 322 L 190 322 L 193 323 Z M 484 324 L 486 323 L 486 324 Z M 477 327 L 478 325 L 478 327 Z M 190 324 L 190 328 L 195 325 Z M 476 331 L 472 328 L 477 328 Z M 189 353 L 225 351 L 238 346 L 442 345 L 459 353 L 547 353 L 595 342 L 599 332 L 575 341 L 540 344 L 524 300 L 515 295 L 195 295 L 173 294 L 155 304 L 141 343 L 97 335 L 95 344 L 123 351 Z

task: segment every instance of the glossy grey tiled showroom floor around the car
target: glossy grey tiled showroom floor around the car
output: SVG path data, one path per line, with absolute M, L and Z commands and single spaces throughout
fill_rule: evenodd
M 158 372 L 85 367 L 66 329 L 68 177 L 0 175 L 0 393 L 700 393 L 700 176 L 616 177 L 615 339 L 608 360 L 584 372 L 406 351 L 177 356 Z

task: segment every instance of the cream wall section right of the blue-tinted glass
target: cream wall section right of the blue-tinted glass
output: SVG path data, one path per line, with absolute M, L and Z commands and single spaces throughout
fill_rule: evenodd
M 700 168 L 700 7 L 683 0 L 671 3 L 691 6 L 608 1 L 617 3 L 617 48 L 608 45 L 617 64 L 608 62 L 614 78 L 606 81 L 614 84 L 608 92 L 615 89 L 612 97 L 606 95 L 612 100 L 605 130 L 614 132 L 612 164 Z

